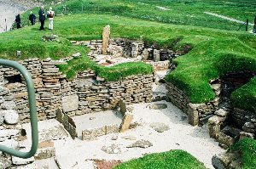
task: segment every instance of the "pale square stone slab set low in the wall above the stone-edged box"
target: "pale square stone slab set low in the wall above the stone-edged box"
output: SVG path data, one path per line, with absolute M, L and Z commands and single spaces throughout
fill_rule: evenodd
M 79 96 L 72 95 L 63 97 L 61 100 L 62 110 L 64 112 L 74 111 L 79 109 Z

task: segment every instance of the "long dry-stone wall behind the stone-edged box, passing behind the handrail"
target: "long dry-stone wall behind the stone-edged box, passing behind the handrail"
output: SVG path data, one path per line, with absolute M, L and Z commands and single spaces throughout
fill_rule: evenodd
M 55 66 L 66 64 L 65 61 L 26 59 L 20 64 L 31 73 L 35 84 L 38 120 L 55 118 L 58 108 L 70 116 L 82 115 L 91 111 L 111 110 L 121 99 L 126 104 L 132 104 L 149 102 L 153 97 L 153 75 L 105 82 L 92 70 L 85 70 L 73 81 L 67 81 Z M 11 104 L 7 109 L 19 114 L 20 123 L 30 121 L 26 85 L 20 73 L 5 67 L 0 67 L 0 72 L 0 85 L 5 88 L 5 92 L 0 92 L 0 108 Z

